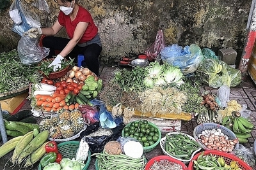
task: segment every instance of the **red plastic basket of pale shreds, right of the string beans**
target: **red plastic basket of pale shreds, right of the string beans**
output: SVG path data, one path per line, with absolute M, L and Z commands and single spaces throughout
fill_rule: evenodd
M 183 170 L 188 170 L 188 167 L 183 162 L 177 159 L 173 159 L 172 157 L 166 155 L 160 155 L 150 159 L 145 166 L 145 170 L 150 170 L 150 166 L 152 166 L 154 162 L 159 162 L 160 160 L 169 160 L 170 162 L 175 162 L 177 164 L 180 164 Z

